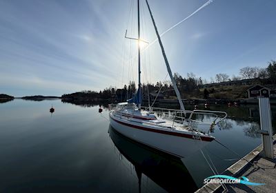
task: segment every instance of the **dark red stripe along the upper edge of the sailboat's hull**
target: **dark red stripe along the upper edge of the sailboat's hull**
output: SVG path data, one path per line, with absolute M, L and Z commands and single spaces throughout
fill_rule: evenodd
M 144 131 L 148 131 L 148 132 L 156 132 L 156 133 L 160 133 L 160 134 L 169 134 L 169 135 L 173 135 L 173 136 L 181 136 L 181 137 L 188 138 L 188 139 L 194 139 L 193 134 L 184 134 L 184 133 L 178 133 L 178 132 L 169 132 L 169 131 L 164 131 L 164 130 L 155 130 L 155 129 L 150 129 L 150 128 L 144 128 L 144 127 L 141 127 L 141 126 L 138 126 L 138 125 L 132 125 L 132 124 L 129 124 L 129 123 L 124 123 L 124 122 L 118 121 L 118 120 L 112 118 L 111 116 L 110 116 L 110 119 L 112 119 L 113 121 L 116 121 L 117 123 L 120 123 L 121 125 L 126 125 L 130 128 L 135 128 L 135 129 L 144 130 Z M 200 138 L 201 138 L 202 141 L 213 141 L 214 140 L 212 137 L 208 137 L 208 136 L 200 136 Z

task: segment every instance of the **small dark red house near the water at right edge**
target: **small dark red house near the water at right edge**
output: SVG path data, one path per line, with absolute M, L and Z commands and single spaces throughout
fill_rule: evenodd
M 247 92 L 248 99 L 257 99 L 259 96 L 276 98 L 276 85 L 254 85 Z

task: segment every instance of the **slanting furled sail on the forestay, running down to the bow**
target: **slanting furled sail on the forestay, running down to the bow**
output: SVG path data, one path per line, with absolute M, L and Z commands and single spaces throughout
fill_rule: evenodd
M 139 1 L 139 0 L 138 0 Z M 186 111 L 185 111 L 185 108 L 184 108 L 184 104 L 183 102 L 181 101 L 181 96 L 180 96 L 180 92 L 177 88 L 177 83 L 175 82 L 175 79 L 172 77 L 172 70 L 170 70 L 170 65 L 168 63 L 168 59 L 166 57 L 166 53 L 165 53 L 165 50 L 164 50 L 164 47 L 163 47 L 163 44 L 161 42 L 161 38 L 159 36 L 159 32 L 157 30 L 157 26 L 155 24 L 155 19 L 153 19 L 153 16 L 152 16 L 152 12 L 150 10 L 150 6 L 148 5 L 148 0 L 146 0 L 146 3 L 147 3 L 147 6 L 148 6 L 148 10 L 150 12 L 150 17 L 152 19 L 152 23 L 153 23 L 153 26 L 155 26 L 155 32 L 157 34 L 157 38 L 158 38 L 158 41 L 159 41 L 159 44 L 160 44 L 160 47 L 161 47 L 161 50 L 162 50 L 162 54 L 163 54 L 163 57 L 164 57 L 164 60 L 165 60 L 165 63 L 166 63 L 166 67 L 167 67 L 167 70 L 168 70 L 168 74 L 170 75 L 170 80 L 172 81 L 172 86 L 173 88 L 175 89 L 175 93 L 177 94 L 177 99 L 179 101 L 179 104 L 180 104 L 180 108 L 181 110 L 184 112 L 184 115 L 186 116 Z

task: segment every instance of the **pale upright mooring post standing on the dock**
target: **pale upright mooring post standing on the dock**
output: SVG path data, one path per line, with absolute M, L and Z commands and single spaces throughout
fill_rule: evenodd
M 259 118 L 261 121 L 261 134 L 264 147 L 264 154 L 267 158 L 273 159 L 273 132 L 269 98 L 259 98 Z

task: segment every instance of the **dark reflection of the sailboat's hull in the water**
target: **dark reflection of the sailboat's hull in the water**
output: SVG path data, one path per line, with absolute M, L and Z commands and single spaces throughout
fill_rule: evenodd
M 135 167 L 141 192 L 141 176 L 148 176 L 168 192 L 195 192 L 197 185 L 182 161 L 170 154 L 137 143 L 109 127 L 115 147 Z

